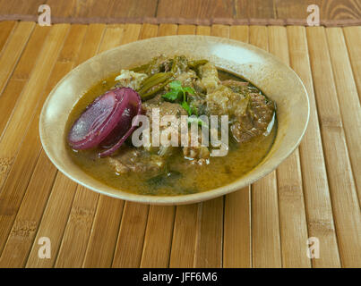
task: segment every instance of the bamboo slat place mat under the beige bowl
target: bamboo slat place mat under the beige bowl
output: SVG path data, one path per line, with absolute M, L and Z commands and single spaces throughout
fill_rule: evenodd
M 57 172 L 38 130 L 50 90 L 93 55 L 175 34 L 248 42 L 297 71 L 311 103 L 300 147 L 252 186 L 189 206 L 108 198 Z M 361 27 L 3 21 L 0 48 L 0 266 L 361 266 Z

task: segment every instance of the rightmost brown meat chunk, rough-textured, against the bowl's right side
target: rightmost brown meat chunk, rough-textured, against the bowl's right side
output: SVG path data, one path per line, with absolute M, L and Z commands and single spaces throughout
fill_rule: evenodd
M 275 112 L 273 102 L 266 97 L 252 93 L 245 114 L 237 116 L 230 130 L 238 142 L 246 142 L 256 136 L 269 132 Z

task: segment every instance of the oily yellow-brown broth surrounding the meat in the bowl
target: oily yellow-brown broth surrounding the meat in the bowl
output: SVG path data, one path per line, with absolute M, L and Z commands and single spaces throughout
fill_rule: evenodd
M 69 115 L 65 136 L 86 106 L 115 85 L 115 78 L 116 74 L 99 82 L 80 98 Z M 219 79 L 242 80 L 225 71 L 219 71 Z M 182 175 L 168 181 L 153 181 L 157 176 L 154 172 L 128 172 L 119 175 L 107 164 L 107 158 L 98 158 L 97 150 L 74 151 L 67 144 L 66 147 L 75 164 L 108 186 L 138 194 L 169 196 L 202 192 L 236 181 L 262 161 L 262 158 L 270 151 L 276 133 L 277 121 L 271 133 L 266 137 L 259 136 L 238 147 L 229 139 L 228 156 L 211 157 L 211 163 L 203 166 L 189 164 L 183 157 L 181 148 L 178 148 L 176 154 L 168 160 L 168 169 L 180 172 Z

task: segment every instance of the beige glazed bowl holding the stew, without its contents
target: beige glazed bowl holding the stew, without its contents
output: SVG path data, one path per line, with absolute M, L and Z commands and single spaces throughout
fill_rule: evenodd
M 234 72 L 276 101 L 279 130 L 271 152 L 244 177 L 218 189 L 184 196 L 136 195 L 107 186 L 90 177 L 73 163 L 65 150 L 65 124 L 80 97 L 99 80 L 129 67 L 147 63 L 156 55 L 186 55 L 205 58 L 220 69 Z M 101 194 L 130 201 L 178 205 L 200 202 L 241 189 L 274 170 L 298 146 L 307 126 L 309 102 L 297 74 L 276 57 L 242 42 L 206 36 L 169 36 L 150 38 L 118 46 L 91 58 L 69 72 L 54 88 L 43 106 L 39 130 L 47 156 L 73 181 Z

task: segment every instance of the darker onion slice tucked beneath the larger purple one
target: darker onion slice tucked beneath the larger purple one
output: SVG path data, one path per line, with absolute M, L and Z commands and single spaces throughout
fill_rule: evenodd
M 104 142 L 102 142 L 101 145 L 108 144 L 109 141 L 114 142 L 116 141 L 116 139 L 118 140 L 112 147 L 108 148 L 106 151 L 100 152 L 99 157 L 110 156 L 114 152 L 116 152 L 116 150 L 119 147 L 122 146 L 125 140 L 133 133 L 133 130 L 135 129 L 135 124 L 134 126 L 132 126 L 133 117 L 142 113 L 141 97 L 139 97 L 139 95 L 132 88 L 124 88 L 124 89 L 126 89 L 125 94 L 128 97 L 129 101 L 127 108 L 125 108 L 125 111 L 122 114 L 121 120 L 114 129 L 114 133 L 117 133 L 117 136 L 112 137 L 113 134 L 110 134 L 112 136 L 109 136 L 106 140 L 104 140 Z M 126 126 L 128 126 L 128 130 L 125 131 Z M 123 133 L 124 131 L 125 133 Z M 122 134 L 123 136 L 120 136 L 120 134 Z

